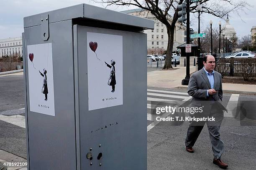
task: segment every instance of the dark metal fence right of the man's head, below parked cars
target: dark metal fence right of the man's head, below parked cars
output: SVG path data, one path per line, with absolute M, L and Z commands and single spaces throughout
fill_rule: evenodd
M 224 76 L 256 77 L 256 58 L 217 58 L 215 70 Z

